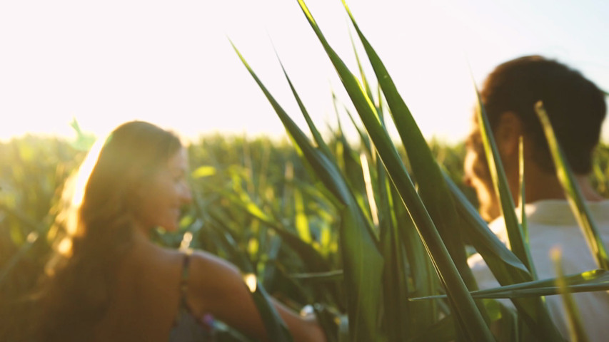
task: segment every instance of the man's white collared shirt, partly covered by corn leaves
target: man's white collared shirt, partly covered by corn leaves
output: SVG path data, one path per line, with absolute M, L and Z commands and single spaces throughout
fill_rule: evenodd
M 588 202 L 587 205 L 605 247 L 609 247 L 609 200 Z M 538 279 L 556 277 L 555 264 L 550 259 L 550 250 L 554 248 L 560 249 L 561 264 L 565 275 L 579 274 L 599 268 L 567 201 L 552 199 L 526 204 L 525 212 L 530 254 Z M 489 227 L 509 247 L 503 217 L 490 222 Z M 468 259 L 468 264 L 480 289 L 500 286 L 480 254 L 473 254 Z M 609 341 L 609 294 L 605 291 L 595 291 L 572 295 L 590 341 Z M 558 326 L 558 330 L 563 333 L 563 336 L 568 337 L 562 298 L 560 296 L 546 296 L 545 298 L 550 316 Z M 509 300 L 501 301 L 511 306 Z

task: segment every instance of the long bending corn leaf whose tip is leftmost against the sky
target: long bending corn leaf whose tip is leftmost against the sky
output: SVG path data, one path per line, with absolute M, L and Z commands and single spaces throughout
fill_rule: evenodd
M 234 48 L 234 46 L 233 46 Z M 378 308 L 381 303 L 381 271 L 383 259 L 378 253 L 372 229 L 356 203 L 337 165 L 325 153 L 316 149 L 281 108 L 271 93 L 261 83 L 246 63 L 241 53 L 236 53 L 258 86 L 263 90 L 291 138 L 300 148 L 316 175 L 338 199 L 341 209 L 341 253 L 348 297 L 349 331 L 352 341 L 384 341 L 384 333 L 378 327 Z

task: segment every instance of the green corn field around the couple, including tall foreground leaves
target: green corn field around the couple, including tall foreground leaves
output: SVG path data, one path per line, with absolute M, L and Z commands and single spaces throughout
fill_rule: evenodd
M 290 141 L 218 135 L 191 143 L 193 204 L 178 232 L 158 230 L 153 239 L 166 247 L 204 249 L 254 274 L 259 286 L 253 296 L 271 341 L 291 337 L 267 296 L 293 309 L 311 308 L 334 342 L 495 341 L 491 325 L 511 332 L 505 341 L 561 341 L 541 296 L 573 284 L 609 289 L 605 271 L 585 280 L 569 275 L 558 290 L 553 281 L 535 279 L 523 257 L 525 240 L 510 239 L 508 249 L 478 215 L 473 190 L 461 183 L 463 145 L 423 138 L 346 4 L 366 53 L 358 61 L 371 63 L 373 77 L 348 70 L 298 2 L 356 108 L 348 124 L 356 125 L 359 139 L 348 140 L 340 126 L 322 135 L 287 73 L 301 113 L 286 113 L 236 47 Z M 308 133 L 293 122 L 296 115 L 304 115 Z M 478 115 L 485 123 L 481 106 Z M 399 140 L 390 137 L 388 125 Z M 488 160 L 496 161 L 488 124 L 481 126 Z M 35 309 L 30 294 L 51 250 L 46 233 L 63 182 L 84 157 L 82 141 L 26 137 L 0 145 L 1 341 L 19 341 Z M 568 174 L 560 147 L 551 135 L 549 141 L 558 169 Z M 592 177 L 605 197 L 608 162 L 609 147 L 602 145 Z M 498 175 L 500 195 L 508 198 L 501 191 L 505 176 Z M 503 212 L 515 212 L 511 198 L 502 202 Z M 518 230 L 515 216 L 510 222 Z M 474 249 L 502 288 L 476 291 L 466 262 Z M 493 296 L 511 298 L 516 311 Z M 220 325 L 218 333 L 220 341 L 249 341 L 229 326 Z

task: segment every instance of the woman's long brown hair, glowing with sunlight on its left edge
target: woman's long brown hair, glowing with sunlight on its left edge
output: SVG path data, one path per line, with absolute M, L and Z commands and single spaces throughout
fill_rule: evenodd
M 51 230 L 59 238 L 47 267 L 39 338 L 92 337 L 111 303 L 117 266 L 132 244 L 139 187 L 180 148 L 173 133 L 133 121 L 116 128 L 99 154 L 89 152 L 79 175 L 66 186 L 70 195 L 64 196 L 64 208 Z

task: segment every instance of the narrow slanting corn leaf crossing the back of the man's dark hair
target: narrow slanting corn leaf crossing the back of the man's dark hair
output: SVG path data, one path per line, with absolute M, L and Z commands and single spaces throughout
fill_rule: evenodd
M 550 152 L 552 154 L 554 164 L 556 165 L 556 176 L 558 177 L 558 180 L 560 180 L 560 185 L 563 185 L 563 190 L 565 190 L 571 210 L 573 211 L 573 214 L 575 214 L 575 218 L 578 220 L 586 242 L 588 242 L 588 247 L 590 247 L 590 251 L 592 251 L 593 257 L 595 258 L 598 266 L 602 269 L 609 269 L 609 257 L 607 254 L 607 249 L 603 244 L 603 240 L 600 239 L 598 228 L 596 227 L 592 215 L 590 214 L 590 210 L 585 205 L 585 200 L 581 190 L 579 189 L 577 182 L 575 182 L 573 171 L 568 165 L 568 161 L 563 153 L 563 150 L 560 148 L 558 140 L 556 140 L 554 130 L 552 129 L 552 124 L 550 123 L 548 114 L 545 113 L 545 109 L 543 108 L 543 103 L 541 103 L 541 101 L 535 104 L 535 113 L 537 113 L 539 120 L 541 121 L 545 138 L 548 139 Z

